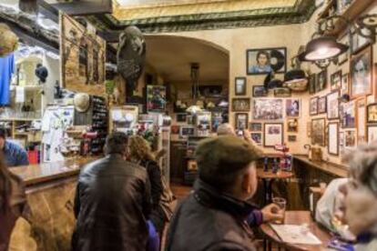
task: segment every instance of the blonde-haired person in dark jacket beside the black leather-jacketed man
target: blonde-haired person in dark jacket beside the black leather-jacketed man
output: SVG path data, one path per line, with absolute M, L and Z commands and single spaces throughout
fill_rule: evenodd
M 161 170 L 152 154 L 147 140 L 142 136 L 130 136 L 128 138 L 128 155 L 132 162 L 137 163 L 139 166 L 144 166 L 147 169 L 152 196 L 150 220 L 156 227 L 159 236 L 161 236 L 167 221 L 165 213 L 159 205 L 163 192 Z

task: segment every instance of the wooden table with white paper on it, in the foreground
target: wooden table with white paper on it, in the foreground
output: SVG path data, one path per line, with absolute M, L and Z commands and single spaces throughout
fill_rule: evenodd
M 321 240 L 321 246 L 284 243 L 269 224 L 262 224 L 260 230 L 270 241 L 278 244 L 280 247 L 287 248 L 288 250 L 320 251 L 325 250 L 327 244 L 330 242 L 331 235 L 323 227 L 319 226 L 312 220 L 310 211 L 286 211 L 284 223 L 289 225 L 307 224 L 311 233 Z

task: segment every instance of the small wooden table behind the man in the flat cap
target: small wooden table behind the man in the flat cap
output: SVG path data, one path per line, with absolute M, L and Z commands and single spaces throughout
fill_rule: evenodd
M 272 199 L 272 183 L 275 179 L 287 179 L 293 176 L 292 172 L 278 171 L 273 173 L 272 170 L 264 171 L 261 168 L 257 169 L 257 176 L 263 181 L 264 186 L 264 204 L 267 205 Z

